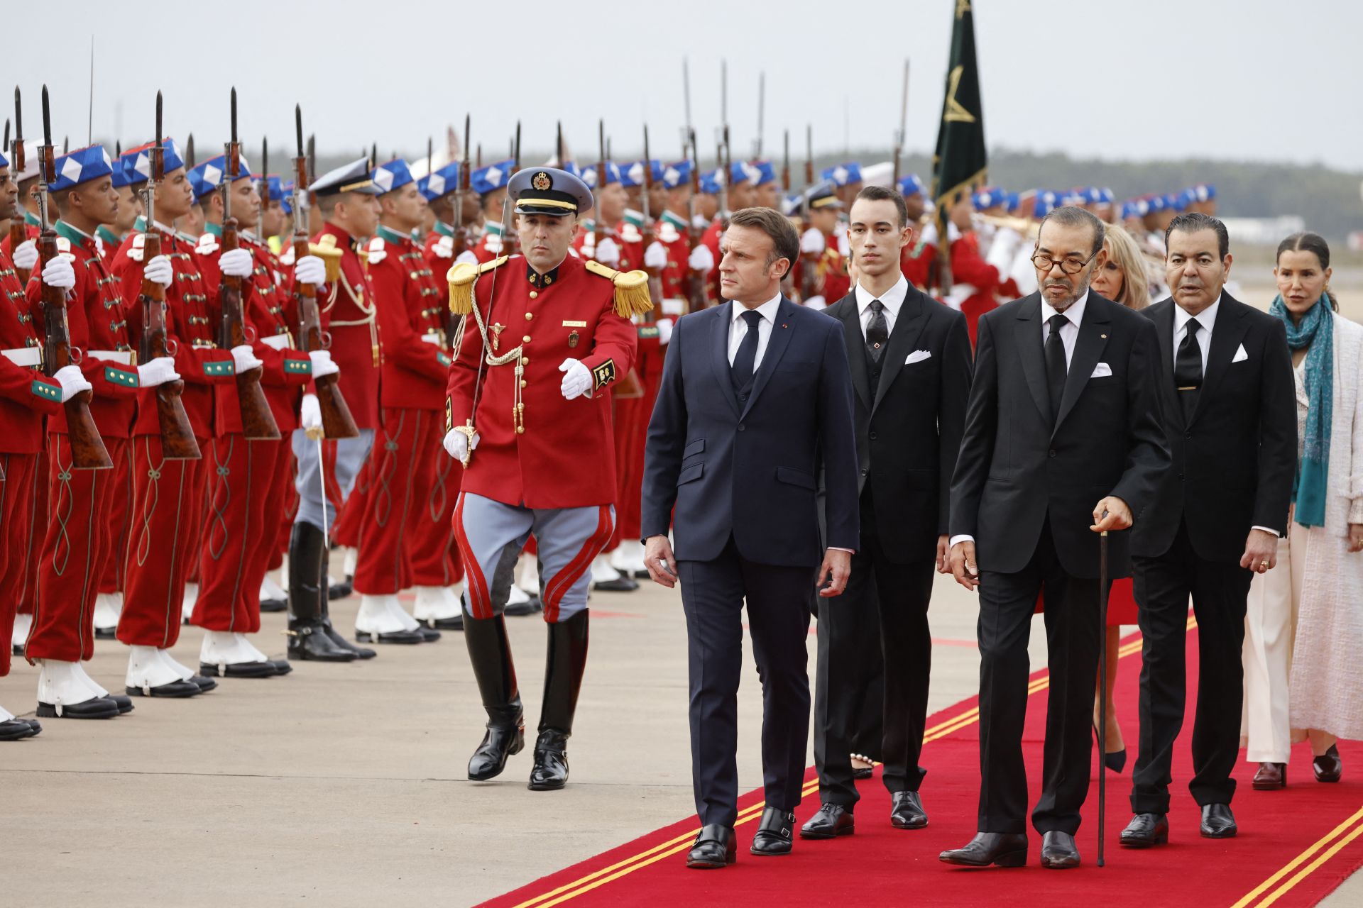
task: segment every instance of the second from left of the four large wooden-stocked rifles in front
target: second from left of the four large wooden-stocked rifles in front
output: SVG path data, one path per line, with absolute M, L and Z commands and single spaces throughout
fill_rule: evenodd
M 142 206 L 146 212 L 147 231 L 142 234 L 142 261 L 147 263 L 161 255 L 161 231 L 157 230 L 157 187 L 165 180 L 165 139 L 161 137 L 161 93 L 157 93 L 157 143 L 147 152 L 151 173 L 142 189 Z M 142 348 L 138 357 L 150 362 L 161 357 L 174 357 L 177 344 L 166 336 L 166 289 L 155 280 L 142 279 Z M 161 429 L 161 456 L 166 460 L 198 460 L 199 442 L 194 440 L 194 427 L 184 411 L 180 395 L 184 381 L 165 381 L 155 388 L 157 425 Z

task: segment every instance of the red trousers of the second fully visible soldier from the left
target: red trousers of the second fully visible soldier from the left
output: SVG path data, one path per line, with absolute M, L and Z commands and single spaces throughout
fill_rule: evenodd
M 166 460 L 159 436 L 132 440 L 132 528 L 124 569 L 119 640 L 168 649 L 180 638 L 189 562 L 198 558 L 202 490 L 213 466 L 210 438 L 199 460 Z

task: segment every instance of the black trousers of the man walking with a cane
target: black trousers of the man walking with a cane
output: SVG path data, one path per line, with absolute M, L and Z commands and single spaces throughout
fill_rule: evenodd
M 1041 799 L 1032 810 L 1032 825 L 1043 833 L 1074 834 L 1088 796 L 1093 690 L 1103 640 L 1099 581 L 1066 573 L 1047 521 L 1026 568 L 1017 573 L 980 572 L 980 832 L 1026 832 L 1026 645 L 1036 598 L 1043 591 L 1051 683 Z

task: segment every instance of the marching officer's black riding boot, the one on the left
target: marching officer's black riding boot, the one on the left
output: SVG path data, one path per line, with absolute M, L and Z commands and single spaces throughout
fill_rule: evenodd
M 488 711 L 488 732 L 469 758 L 469 779 L 484 781 L 500 775 L 507 757 L 525 747 L 525 713 L 515 683 L 506 618 L 473 618 L 465 614 L 463 641 L 469 647 L 483 708 Z

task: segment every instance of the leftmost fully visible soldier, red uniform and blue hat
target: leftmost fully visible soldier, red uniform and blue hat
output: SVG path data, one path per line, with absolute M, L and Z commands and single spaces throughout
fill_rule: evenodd
M 174 381 L 179 376 L 169 357 L 134 365 L 121 287 L 105 267 L 95 240 L 101 226 L 119 219 L 121 204 L 108 152 L 102 146 L 80 148 L 57 158 L 55 169 L 57 180 L 49 192 L 60 214 L 55 225 L 60 255 L 44 271 L 42 283 L 60 286 L 67 294 L 67 334 L 71 344 L 83 351 L 79 368 L 94 389 L 90 415 L 114 468 L 75 468 L 65 411 L 48 419 L 50 475 L 44 481 L 49 517 L 25 655 L 41 666 L 40 702 L 53 707 L 52 712 L 60 702 L 64 716 L 85 717 L 108 715 L 106 707 L 86 705 L 94 698 L 108 698 L 109 693 L 90 679 L 80 663 L 94 656 L 99 574 L 113 554 L 112 531 L 119 525 L 110 520 L 110 512 L 129 509 L 128 501 L 119 498 L 119 483 L 127 479 L 138 388 Z M 56 271 L 59 260 L 70 270 L 70 278 L 49 274 Z M 29 293 L 30 304 L 38 305 L 37 282 L 29 285 Z M 119 464 L 124 464 L 123 476 Z M 112 617 L 117 623 L 117 614 Z M 127 697 L 116 700 L 131 709 Z

